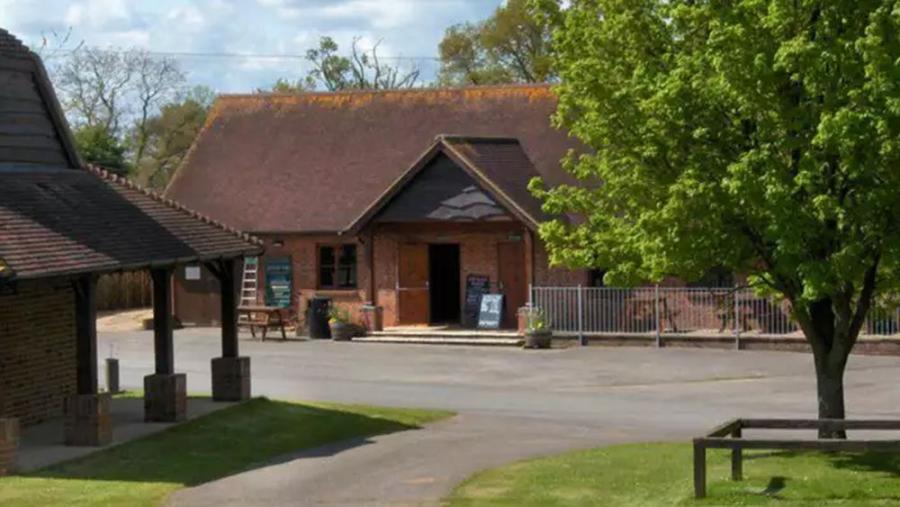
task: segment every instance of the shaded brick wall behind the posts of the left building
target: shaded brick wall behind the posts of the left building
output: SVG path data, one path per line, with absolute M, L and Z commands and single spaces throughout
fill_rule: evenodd
M 23 425 L 62 415 L 75 392 L 75 295 L 65 282 L 0 295 L 0 417 Z

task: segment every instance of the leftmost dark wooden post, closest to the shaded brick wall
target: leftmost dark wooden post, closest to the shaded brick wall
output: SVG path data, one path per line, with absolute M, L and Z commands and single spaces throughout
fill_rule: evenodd
M 76 389 L 97 394 L 97 279 L 85 276 L 75 285 Z

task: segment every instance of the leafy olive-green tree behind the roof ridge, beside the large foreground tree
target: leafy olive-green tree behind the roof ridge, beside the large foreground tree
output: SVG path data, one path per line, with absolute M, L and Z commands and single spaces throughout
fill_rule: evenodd
M 447 86 L 552 80 L 550 39 L 561 20 L 560 9 L 557 0 L 540 4 L 509 0 L 482 22 L 451 26 L 438 47 L 438 82 Z

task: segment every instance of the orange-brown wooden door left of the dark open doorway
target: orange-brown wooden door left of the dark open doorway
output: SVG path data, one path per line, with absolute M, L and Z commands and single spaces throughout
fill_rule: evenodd
M 397 321 L 400 325 L 428 324 L 428 245 L 401 243 L 397 260 Z

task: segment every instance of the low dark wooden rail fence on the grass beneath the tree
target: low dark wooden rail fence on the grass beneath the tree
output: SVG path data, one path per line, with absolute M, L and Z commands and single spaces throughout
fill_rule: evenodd
M 757 439 L 745 429 L 767 430 L 900 430 L 900 420 L 733 419 L 694 439 L 694 497 L 706 496 L 706 449 L 731 449 L 731 480 L 743 479 L 744 449 L 822 452 L 900 452 L 900 440 Z

